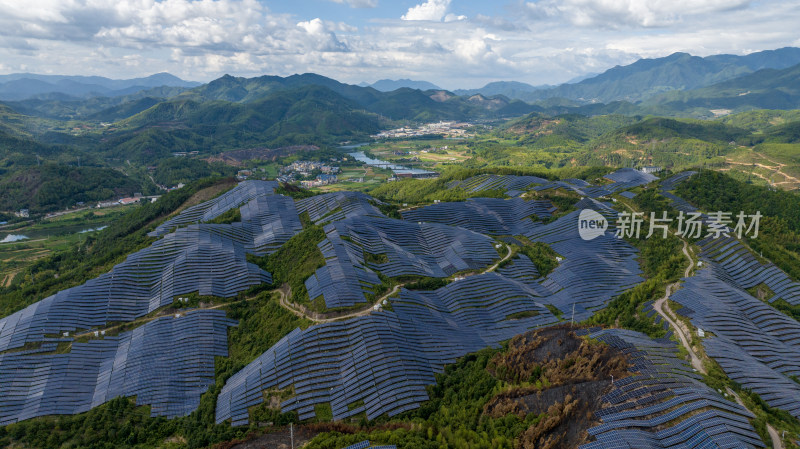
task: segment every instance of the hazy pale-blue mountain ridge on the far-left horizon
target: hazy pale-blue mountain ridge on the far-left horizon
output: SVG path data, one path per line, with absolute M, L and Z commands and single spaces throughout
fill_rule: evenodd
M 157 73 L 145 78 L 114 80 L 102 76 L 65 76 L 15 73 L 0 75 L 0 100 L 18 101 L 33 97 L 89 98 L 118 97 L 135 94 L 155 87 L 192 88 L 201 83 L 184 81 L 169 73 Z

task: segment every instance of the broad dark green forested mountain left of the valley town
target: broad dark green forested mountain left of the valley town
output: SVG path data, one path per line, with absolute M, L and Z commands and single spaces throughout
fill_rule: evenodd
M 176 151 L 335 143 L 380 129 L 379 117 L 320 86 L 279 90 L 248 103 L 179 96 L 118 123 L 98 148 L 149 163 Z

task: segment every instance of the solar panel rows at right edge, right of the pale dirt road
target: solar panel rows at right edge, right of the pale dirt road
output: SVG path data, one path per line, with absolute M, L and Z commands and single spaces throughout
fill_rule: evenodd
M 661 183 L 662 194 L 685 213 L 697 209 L 671 194 L 695 172 L 679 173 Z M 770 262 L 762 263 L 732 235 L 705 238 L 702 268 L 685 278 L 671 299 L 678 312 L 711 337 L 703 340 L 706 353 L 725 373 L 751 389 L 771 407 L 800 417 L 800 324 L 769 303 L 800 304 L 800 284 Z M 752 289 L 771 296 L 756 299 Z

